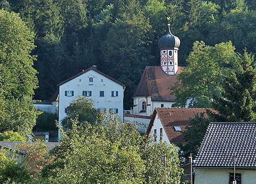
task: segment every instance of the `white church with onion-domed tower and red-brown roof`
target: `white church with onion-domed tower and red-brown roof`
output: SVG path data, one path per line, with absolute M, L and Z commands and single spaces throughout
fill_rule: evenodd
M 150 116 L 156 107 L 172 107 L 175 96 L 171 87 L 178 81 L 176 76 L 183 67 L 178 66 L 180 39 L 169 30 L 158 41 L 161 66 L 146 66 L 133 95 L 133 114 Z

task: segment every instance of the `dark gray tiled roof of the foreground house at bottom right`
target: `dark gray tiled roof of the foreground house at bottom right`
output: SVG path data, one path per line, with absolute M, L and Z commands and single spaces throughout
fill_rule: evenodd
M 210 123 L 196 167 L 256 167 L 256 122 Z

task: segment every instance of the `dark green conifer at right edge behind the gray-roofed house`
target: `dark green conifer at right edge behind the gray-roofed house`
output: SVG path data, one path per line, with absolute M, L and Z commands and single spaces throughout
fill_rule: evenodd
M 254 57 L 246 51 L 238 54 L 231 75 L 223 74 L 221 96 L 214 95 L 212 107 L 224 122 L 251 122 L 256 120 L 256 68 Z

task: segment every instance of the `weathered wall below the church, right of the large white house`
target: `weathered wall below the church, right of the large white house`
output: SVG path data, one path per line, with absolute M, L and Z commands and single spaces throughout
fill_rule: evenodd
M 136 115 L 124 115 L 124 121 L 133 123 L 139 133 L 146 134 L 150 122 L 150 117 L 139 118 L 133 116 Z

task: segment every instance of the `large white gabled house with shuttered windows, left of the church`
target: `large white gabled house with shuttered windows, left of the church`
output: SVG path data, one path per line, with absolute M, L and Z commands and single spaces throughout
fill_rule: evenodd
M 125 85 L 90 67 L 59 83 L 59 123 L 66 116 L 69 104 L 78 95 L 86 96 L 99 111 L 113 112 L 123 120 L 123 92 Z

